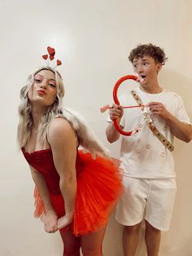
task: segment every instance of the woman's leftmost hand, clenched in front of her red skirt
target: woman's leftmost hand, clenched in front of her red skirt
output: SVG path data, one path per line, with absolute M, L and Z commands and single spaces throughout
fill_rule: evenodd
M 44 228 L 47 233 L 55 233 L 58 230 L 58 216 L 55 210 L 48 210 L 46 214 L 41 217 L 42 223 L 44 223 Z

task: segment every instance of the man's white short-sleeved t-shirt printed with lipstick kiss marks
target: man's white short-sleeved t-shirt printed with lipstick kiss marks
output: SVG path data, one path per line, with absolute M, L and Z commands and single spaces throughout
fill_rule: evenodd
M 159 94 L 148 94 L 139 87 L 134 90 L 142 99 L 143 104 L 149 104 L 151 101 L 161 102 L 173 116 L 190 124 L 190 117 L 177 93 L 163 90 Z M 137 105 L 137 102 L 129 92 L 120 97 L 120 104 L 130 106 Z M 149 108 L 147 110 L 151 114 L 156 128 L 169 142 L 173 143 L 174 136 L 164 119 L 152 114 Z M 165 148 L 163 143 L 151 132 L 143 118 L 142 108 L 124 109 L 120 125 L 126 131 L 139 129 L 135 135 L 122 135 L 120 167 L 124 170 L 125 176 L 142 179 L 175 178 L 172 152 Z

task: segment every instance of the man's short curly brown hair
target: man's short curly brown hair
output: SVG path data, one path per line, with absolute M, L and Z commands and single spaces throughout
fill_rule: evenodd
M 164 50 L 152 43 L 137 45 L 137 47 L 130 52 L 129 60 L 133 64 L 134 58 L 142 58 L 144 55 L 151 56 L 156 63 L 160 63 L 162 65 L 165 64 L 166 60 L 168 60 Z

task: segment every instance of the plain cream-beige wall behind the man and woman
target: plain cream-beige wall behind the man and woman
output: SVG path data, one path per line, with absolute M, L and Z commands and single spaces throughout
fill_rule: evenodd
M 64 105 L 79 111 L 111 156 L 118 157 L 120 145 L 107 143 L 107 113 L 99 108 L 112 103 L 117 79 L 132 73 L 127 56 L 138 43 L 164 48 L 169 60 L 159 74 L 160 84 L 181 95 L 192 119 L 192 2 L 1 0 L 0 28 L 0 255 L 61 256 L 59 234 L 46 234 L 33 218 L 33 181 L 16 145 L 21 86 L 28 73 L 44 64 L 46 46 L 54 46 L 56 57 L 63 60 L 59 72 L 66 87 Z M 160 256 L 192 255 L 192 143 L 176 140 L 175 145 L 177 200 Z M 111 216 L 104 256 L 123 255 L 121 232 Z M 144 255 L 142 229 L 137 256 Z

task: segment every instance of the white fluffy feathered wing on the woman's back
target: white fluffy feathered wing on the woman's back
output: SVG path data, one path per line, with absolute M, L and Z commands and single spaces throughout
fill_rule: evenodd
M 77 139 L 81 147 L 85 151 L 89 151 L 93 158 L 96 155 L 102 155 L 103 157 L 109 157 L 107 149 L 104 148 L 103 144 L 94 135 L 93 131 L 89 129 L 89 126 L 85 123 L 83 117 L 75 111 L 64 108 L 63 117 L 72 125 L 72 128 L 76 131 Z

